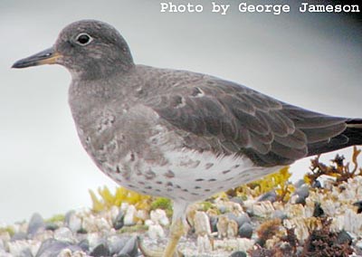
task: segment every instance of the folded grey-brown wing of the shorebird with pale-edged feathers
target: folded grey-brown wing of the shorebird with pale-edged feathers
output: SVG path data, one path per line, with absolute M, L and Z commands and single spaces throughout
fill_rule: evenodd
M 264 167 L 342 148 L 348 140 L 338 136 L 348 119 L 300 109 L 209 76 L 177 84 L 147 105 L 192 136 L 186 147 L 206 144 L 216 154 L 244 154 Z

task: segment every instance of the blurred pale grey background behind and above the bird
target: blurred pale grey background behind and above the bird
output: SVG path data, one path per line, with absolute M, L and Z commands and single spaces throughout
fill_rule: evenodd
M 135 62 L 205 72 L 307 109 L 362 117 L 362 30 L 347 16 L 299 14 L 296 2 L 289 14 L 241 14 L 241 1 L 216 1 L 231 5 L 221 15 L 211 13 L 210 1 L 184 2 L 204 5 L 204 12 L 161 14 L 156 0 L 0 2 L 0 224 L 87 207 L 88 189 L 115 186 L 81 148 L 68 71 L 10 69 L 76 20 L 114 25 Z M 295 164 L 295 177 L 309 164 Z

